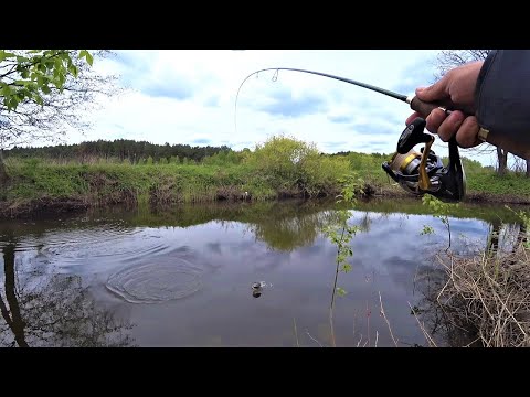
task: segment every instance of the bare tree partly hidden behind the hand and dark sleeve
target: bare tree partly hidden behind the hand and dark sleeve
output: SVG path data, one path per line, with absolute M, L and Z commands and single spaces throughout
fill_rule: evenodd
M 437 78 L 444 76 L 448 71 L 456 66 L 460 66 L 468 62 L 484 61 L 488 56 L 490 50 L 445 50 L 439 52 L 437 56 L 437 66 L 439 74 Z M 491 144 L 480 144 L 479 149 L 474 149 L 481 153 L 497 152 L 497 172 L 505 174 L 508 170 L 508 151 L 495 148 Z M 527 160 L 527 176 L 530 176 L 530 162 Z

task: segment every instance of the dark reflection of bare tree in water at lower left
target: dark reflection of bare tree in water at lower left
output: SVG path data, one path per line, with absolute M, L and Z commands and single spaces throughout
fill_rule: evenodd
M 129 346 L 132 328 L 98 308 L 78 276 L 18 275 L 15 245 L 3 247 L 3 291 L 0 345 L 3 346 Z M 19 278 L 19 276 L 23 276 Z

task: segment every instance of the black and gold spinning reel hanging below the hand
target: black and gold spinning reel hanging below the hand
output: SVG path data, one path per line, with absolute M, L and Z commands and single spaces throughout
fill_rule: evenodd
M 466 194 L 466 174 L 456 139 L 453 137 L 448 142 L 449 162 L 444 167 L 442 158 L 431 150 L 434 136 L 423 132 L 425 125 L 418 117 L 406 126 L 398 141 L 398 151 L 382 168 L 412 194 L 428 193 L 444 202 L 458 202 Z M 414 151 L 418 143 L 425 143 L 420 153 Z

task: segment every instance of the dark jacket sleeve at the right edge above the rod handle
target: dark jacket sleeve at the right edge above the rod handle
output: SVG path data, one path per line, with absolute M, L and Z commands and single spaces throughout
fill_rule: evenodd
M 475 92 L 478 124 L 515 141 L 530 140 L 530 51 L 494 50 Z

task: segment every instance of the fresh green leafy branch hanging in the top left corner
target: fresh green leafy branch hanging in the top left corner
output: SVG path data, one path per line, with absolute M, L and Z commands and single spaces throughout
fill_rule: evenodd
M 0 50 L 0 97 L 3 107 L 15 110 L 24 100 L 43 106 L 42 94 L 50 94 L 52 86 L 63 92 L 70 75 L 77 77 L 80 69 L 75 65 L 75 56 L 85 58 L 93 65 L 94 57 L 86 51 L 68 50 L 31 50 L 17 54 Z

